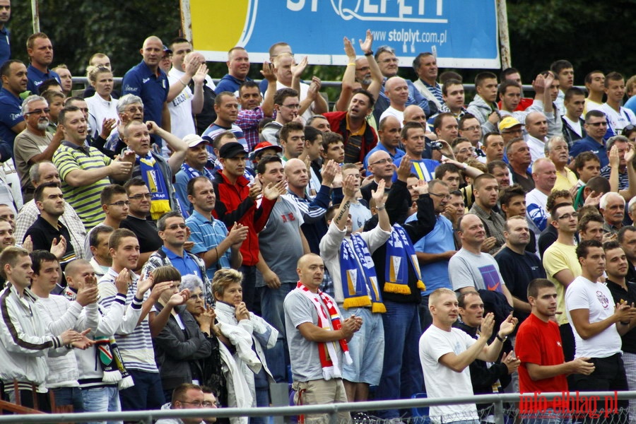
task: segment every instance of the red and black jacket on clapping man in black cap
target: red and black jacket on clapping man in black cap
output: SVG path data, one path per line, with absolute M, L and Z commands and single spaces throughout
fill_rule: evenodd
M 256 265 L 259 261 L 259 232 L 265 228 L 269 214 L 276 201 L 263 198 L 261 206 L 249 197 L 249 181 L 240 176 L 236 184 L 231 184 L 222 171 L 214 177 L 214 193 L 216 204 L 214 212 L 218 219 L 225 223 L 228 230 L 234 223 L 247 226 L 247 239 L 241 245 L 243 265 Z

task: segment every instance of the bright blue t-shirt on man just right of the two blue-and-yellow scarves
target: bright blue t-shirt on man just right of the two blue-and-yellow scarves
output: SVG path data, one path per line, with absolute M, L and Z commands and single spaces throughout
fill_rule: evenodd
M 413 214 L 406 222 L 408 223 L 416 219 L 416 214 Z M 445 216 L 437 216 L 437 222 L 432 231 L 413 243 L 413 247 L 415 247 L 416 252 L 424 253 L 444 253 L 449 250 L 454 250 L 453 224 Z M 448 277 L 448 261 L 420 264 L 420 273 L 426 285 L 426 291 L 422 292 L 423 296 L 428 296 L 433 291 L 442 287 L 452 290 L 452 285 Z

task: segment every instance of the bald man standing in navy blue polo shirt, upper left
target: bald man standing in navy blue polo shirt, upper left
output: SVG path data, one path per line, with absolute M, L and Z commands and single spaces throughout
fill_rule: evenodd
M 151 35 L 144 40 L 139 53 L 143 59 L 124 75 L 122 95 L 139 96 L 143 101 L 143 119 L 154 121 L 170 132 L 170 111 L 166 102 L 170 83 L 165 72 L 159 68 L 163 57 L 163 42 L 159 37 Z M 153 135 L 153 141 L 161 146 L 158 136 Z

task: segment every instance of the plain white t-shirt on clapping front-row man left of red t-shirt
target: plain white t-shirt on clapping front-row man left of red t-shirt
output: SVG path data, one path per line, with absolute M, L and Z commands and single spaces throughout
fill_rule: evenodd
M 476 343 L 474 338 L 460 329 L 444 331 L 432 325 L 420 337 L 420 364 L 424 372 L 426 394 L 429 398 L 473 396 L 470 367 L 454 372 L 440 363 L 447 353 L 459 355 Z M 478 420 L 475 404 L 440 405 L 430 407 L 432 423 L 450 423 L 459 420 Z

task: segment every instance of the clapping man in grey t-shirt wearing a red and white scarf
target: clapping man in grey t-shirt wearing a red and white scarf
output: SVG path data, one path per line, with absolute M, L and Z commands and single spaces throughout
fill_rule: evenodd
M 297 405 L 334 404 L 347 401 L 342 382 L 342 365 L 351 363 L 347 341 L 360 330 L 360 317 L 341 320 L 340 310 L 331 296 L 319 290 L 324 262 L 317 254 L 298 260 L 297 287 L 285 298 L 285 329 L 293 375 L 294 403 Z M 329 416 L 303 417 L 307 423 L 326 423 Z M 348 412 L 338 413 L 338 422 L 350 421 Z

